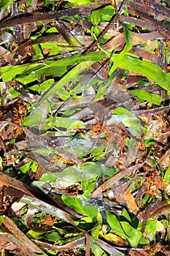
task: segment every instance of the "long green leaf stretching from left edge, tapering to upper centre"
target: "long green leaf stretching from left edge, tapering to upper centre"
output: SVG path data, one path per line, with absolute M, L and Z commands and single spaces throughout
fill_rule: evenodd
M 106 56 L 105 53 L 89 53 L 87 56 L 77 54 L 58 61 L 45 61 L 39 64 L 23 64 L 15 66 L 1 67 L 2 80 L 8 81 L 17 78 L 21 83 L 27 84 L 39 78 L 39 75 L 55 75 L 61 77 L 67 72 L 68 65 L 78 64 L 84 61 L 101 61 Z

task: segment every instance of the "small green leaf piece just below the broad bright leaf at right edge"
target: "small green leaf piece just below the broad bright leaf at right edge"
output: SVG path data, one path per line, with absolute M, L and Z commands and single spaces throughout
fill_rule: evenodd
M 139 99 L 148 100 L 155 105 L 161 105 L 161 97 L 158 94 L 150 94 L 148 91 L 144 90 L 131 90 L 130 92 L 139 97 Z

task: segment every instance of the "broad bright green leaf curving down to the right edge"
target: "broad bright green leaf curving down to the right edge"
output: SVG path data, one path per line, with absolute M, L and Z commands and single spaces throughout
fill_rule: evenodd
M 112 59 L 116 59 L 116 56 L 112 56 Z M 163 69 L 156 64 L 149 61 L 142 61 L 135 59 L 131 56 L 125 55 L 119 63 L 119 67 L 127 70 L 131 70 L 150 78 L 152 81 L 166 89 L 170 94 L 170 73 L 164 73 Z M 111 73 L 111 70 L 110 70 Z

